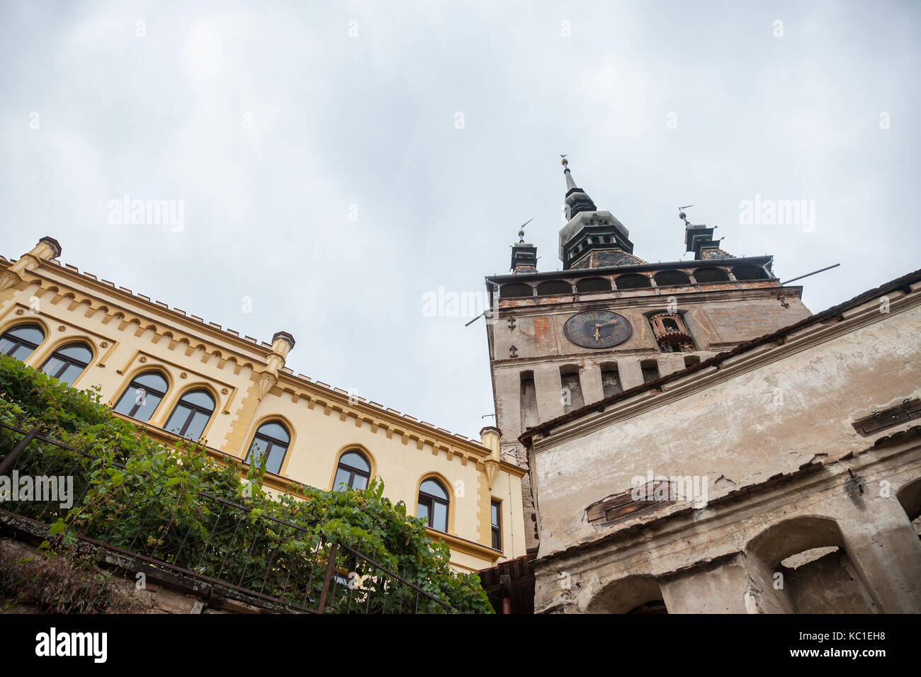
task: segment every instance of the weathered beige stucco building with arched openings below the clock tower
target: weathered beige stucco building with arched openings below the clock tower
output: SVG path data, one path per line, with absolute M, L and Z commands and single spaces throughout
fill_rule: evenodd
M 522 435 L 535 610 L 921 612 L 919 291 L 906 275 Z

